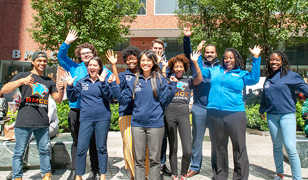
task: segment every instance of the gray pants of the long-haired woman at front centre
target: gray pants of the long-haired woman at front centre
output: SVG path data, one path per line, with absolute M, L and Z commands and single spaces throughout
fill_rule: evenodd
M 131 126 L 136 180 L 145 180 L 146 145 L 149 155 L 149 180 L 160 179 L 160 155 L 165 127 L 149 128 Z

